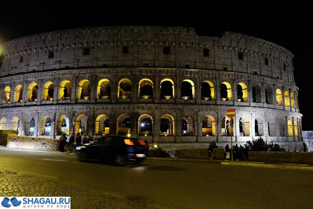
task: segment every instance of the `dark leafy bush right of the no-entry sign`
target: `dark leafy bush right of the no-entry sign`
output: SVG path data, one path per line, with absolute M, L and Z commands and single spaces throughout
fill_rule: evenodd
M 273 144 L 270 142 L 264 142 L 262 137 L 253 140 L 253 142 L 247 141 L 245 144 L 249 148 L 249 151 L 259 151 L 259 152 L 285 152 L 284 147 L 280 147 L 278 144 Z

